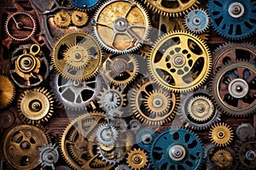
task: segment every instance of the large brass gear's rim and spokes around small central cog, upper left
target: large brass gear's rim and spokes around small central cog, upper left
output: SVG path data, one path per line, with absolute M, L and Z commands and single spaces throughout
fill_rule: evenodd
M 82 46 L 89 51 L 90 61 L 86 65 L 86 69 L 73 69 L 68 66 L 63 54 L 74 45 L 83 44 Z M 102 62 L 102 49 L 99 47 L 96 40 L 91 37 L 87 32 L 73 32 L 67 33 L 55 43 L 53 48 L 52 61 L 56 71 L 61 76 L 67 77 L 73 81 L 83 81 L 94 77 Z

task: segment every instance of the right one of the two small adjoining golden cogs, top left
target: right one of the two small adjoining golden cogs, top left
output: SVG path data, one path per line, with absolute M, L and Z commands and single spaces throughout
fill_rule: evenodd
M 88 14 L 79 10 L 73 11 L 71 19 L 74 26 L 84 26 L 88 21 Z

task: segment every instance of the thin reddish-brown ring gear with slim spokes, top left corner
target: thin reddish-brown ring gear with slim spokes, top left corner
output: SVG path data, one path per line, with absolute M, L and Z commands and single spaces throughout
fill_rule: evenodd
M 8 16 L 4 28 L 7 35 L 13 40 L 24 42 L 34 35 L 37 23 L 31 14 L 17 12 Z

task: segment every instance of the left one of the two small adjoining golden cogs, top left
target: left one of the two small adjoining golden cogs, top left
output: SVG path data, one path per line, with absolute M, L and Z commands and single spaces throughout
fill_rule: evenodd
M 54 16 L 55 25 L 60 28 L 66 28 L 71 23 L 71 16 L 66 9 L 60 9 Z

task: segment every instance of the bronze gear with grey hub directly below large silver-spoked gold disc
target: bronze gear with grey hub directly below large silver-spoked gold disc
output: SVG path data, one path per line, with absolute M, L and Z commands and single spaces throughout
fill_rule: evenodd
M 139 56 L 140 57 L 140 56 Z M 112 54 L 102 65 L 104 76 L 115 85 L 126 85 L 134 80 L 138 73 L 136 54 Z

